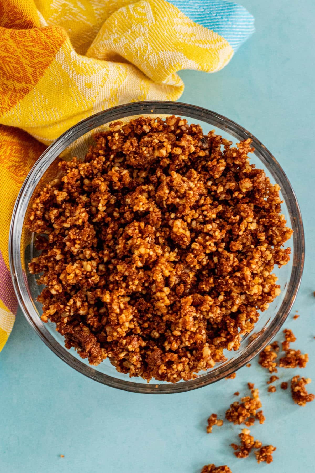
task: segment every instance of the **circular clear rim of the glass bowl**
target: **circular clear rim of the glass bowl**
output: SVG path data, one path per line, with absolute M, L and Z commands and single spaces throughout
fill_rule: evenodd
M 36 185 L 40 181 L 47 168 L 51 165 L 53 160 L 57 158 L 60 153 L 74 140 L 81 137 L 86 132 L 93 130 L 95 127 L 104 123 L 115 122 L 125 117 L 142 114 L 174 114 L 187 116 L 191 119 L 201 120 L 203 122 L 209 123 L 214 127 L 217 126 L 221 130 L 227 131 L 227 133 L 230 133 L 238 140 L 251 138 L 253 140 L 253 147 L 255 148 L 256 155 L 259 156 L 259 159 L 268 168 L 275 181 L 281 186 L 281 192 L 289 210 L 291 227 L 294 230 L 294 260 L 286 296 L 282 301 L 281 307 L 279 308 L 277 315 L 274 317 L 274 320 L 270 326 L 267 327 L 267 329 L 251 344 L 251 350 L 241 354 L 239 357 L 236 357 L 228 366 L 219 367 L 216 370 L 215 376 L 213 376 L 212 372 L 209 372 L 202 377 L 197 377 L 196 379 L 190 381 L 183 381 L 176 384 L 158 384 L 158 389 L 155 388 L 154 383 L 143 384 L 124 381 L 99 371 L 95 371 L 90 366 L 85 365 L 82 361 L 75 358 L 66 348 L 60 345 L 60 343 L 57 342 L 47 330 L 46 333 L 44 333 L 41 326 L 42 321 L 38 317 L 38 314 L 34 309 L 32 299 L 30 298 L 30 295 L 26 289 L 25 278 L 23 276 L 21 264 L 21 235 L 27 205 Z M 33 168 L 27 175 L 26 180 L 24 181 L 24 184 L 22 185 L 21 190 L 17 196 L 9 233 L 10 271 L 13 280 L 13 286 L 17 295 L 17 300 L 26 317 L 26 320 L 40 336 L 43 342 L 57 356 L 59 356 L 60 359 L 65 361 L 69 366 L 75 368 L 85 376 L 111 387 L 143 394 L 171 394 L 197 389 L 199 387 L 219 381 L 220 379 L 229 376 L 231 373 L 237 371 L 239 368 L 247 364 L 272 340 L 289 315 L 289 311 L 291 310 L 291 307 L 297 296 L 298 288 L 302 278 L 304 256 L 305 237 L 298 201 L 287 176 L 285 175 L 277 160 L 272 156 L 270 151 L 266 149 L 266 147 L 249 131 L 232 120 L 224 117 L 223 115 L 196 105 L 168 101 L 154 100 L 118 105 L 85 118 L 81 122 L 71 127 L 69 130 L 65 131 L 43 152 L 41 157 L 36 161 Z

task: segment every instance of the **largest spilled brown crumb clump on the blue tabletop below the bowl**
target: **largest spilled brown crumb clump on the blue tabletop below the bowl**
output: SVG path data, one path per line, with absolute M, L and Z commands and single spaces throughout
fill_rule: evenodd
M 252 383 L 248 383 L 249 386 L 254 386 Z M 233 422 L 234 424 L 242 424 L 246 423 L 246 425 L 252 425 L 256 419 L 259 420 L 260 423 L 263 423 L 264 415 L 262 411 L 257 412 L 257 409 L 262 407 L 262 403 L 259 399 L 259 391 L 258 389 L 251 388 L 251 396 L 245 396 L 241 398 L 241 403 L 239 401 L 235 401 L 230 405 L 230 408 L 225 413 L 225 418 L 229 420 L 229 422 Z M 248 420 L 247 420 L 248 419 Z

